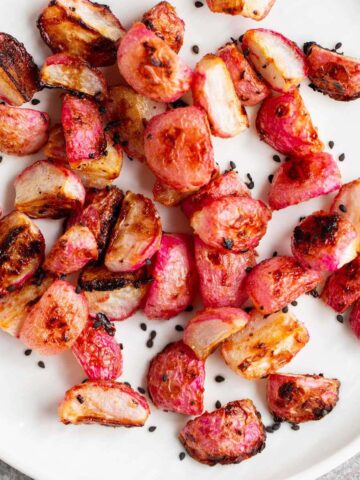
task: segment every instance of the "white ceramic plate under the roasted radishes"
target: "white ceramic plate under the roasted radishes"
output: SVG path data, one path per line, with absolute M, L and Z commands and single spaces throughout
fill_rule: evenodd
M 156 0 L 109 1 L 113 12 L 128 27 L 151 7 Z M 194 65 L 201 54 L 216 50 L 230 39 L 239 37 L 246 29 L 257 26 L 279 30 L 302 45 L 316 40 L 329 48 L 341 41 L 349 55 L 359 55 L 360 2 L 359 0 L 277 0 L 268 18 L 260 24 L 242 17 L 212 14 L 207 7 L 195 8 L 193 0 L 174 0 L 178 13 L 186 21 L 186 38 L 182 55 Z M 8 32 L 24 42 L 40 65 L 49 55 L 36 29 L 36 18 L 46 5 L 43 0 L 1 0 L 0 31 Z M 200 47 L 200 55 L 191 52 L 191 46 Z M 112 82 L 116 82 L 116 68 Z M 319 127 L 321 138 L 335 141 L 335 157 L 346 154 L 340 164 L 344 182 L 358 177 L 360 101 L 342 103 L 313 92 L 303 82 L 301 92 Z M 48 110 L 53 122 L 59 118 L 57 91 L 36 95 L 41 100 L 39 109 Z M 254 195 L 266 200 L 268 175 L 278 166 L 275 153 L 261 143 L 253 128 L 254 109 L 248 109 L 252 128 L 239 137 L 214 139 L 216 160 L 223 168 L 229 161 L 236 162 L 242 176 L 251 173 L 255 180 Z M 13 206 L 12 182 L 25 166 L 42 157 L 4 156 L 0 165 L 0 205 L 9 212 Z M 144 165 L 126 160 L 116 182 L 123 189 L 133 189 L 151 196 L 152 176 Z M 260 259 L 289 253 L 290 234 L 298 218 L 327 207 L 331 196 L 322 197 L 274 214 L 266 237 L 261 242 Z M 187 231 L 184 217 L 178 209 L 160 208 L 164 229 Z M 39 221 L 48 246 L 60 231 L 60 222 Z M 360 346 L 348 326 L 338 323 L 335 314 L 320 300 L 303 296 L 297 307 L 291 307 L 303 320 L 311 334 L 310 343 L 284 370 L 294 373 L 323 372 L 338 377 L 342 382 L 341 399 L 335 410 L 320 422 L 302 425 L 295 432 L 288 425 L 268 435 L 267 447 L 261 455 L 240 465 L 209 468 L 178 455 L 183 450 L 177 440 L 186 417 L 164 413 L 152 408 L 152 415 L 143 429 L 112 429 L 99 426 L 64 426 L 57 420 L 57 404 L 66 389 L 80 382 L 84 374 L 71 353 L 43 359 L 46 369 L 40 369 L 40 357 L 26 357 L 24 346 L 5 334 L 0 334 L 0 457 L 37 480 L 98 480 L 125 478 L 126 480 L 172 480 L 197 478 L 229 480 L 307 480 L 349 458 L 360 450 Z M 147 321 L 141 314 L 119 323 L 117 338 L 124 344 L 123 381 L 135 388 L 145 386 L 145 373 L 150 358 L 165 344 L 180 339 L 176 324 L 184 324 L 191 316 L 186 313 L 168 322 Z M 146 321 L 148 331 L 139 324 Z M 145 346 L 150 330 L 157 331 L 154 348 Z M 249 382 L 236 376 L 217 354 L 206 365 L 205 406 L 212 410 L 216 400 L 225 403 L 240 398 L 251 398 L 265 424 L 271 419 L 266 410 L 265 382 Z M 218 384 L 216 374 L 226 381 Z M 148 427 L 156 425 L 155 432 Z

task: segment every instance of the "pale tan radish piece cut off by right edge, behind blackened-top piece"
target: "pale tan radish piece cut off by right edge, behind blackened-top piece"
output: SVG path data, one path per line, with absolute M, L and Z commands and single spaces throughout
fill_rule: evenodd
M 348 220 L 356 229 L 358 235 L 357 249 L 360 251 L 360 178 L 345 183 L 340 188 L 332 205 L 331 211 L 337 212 Z

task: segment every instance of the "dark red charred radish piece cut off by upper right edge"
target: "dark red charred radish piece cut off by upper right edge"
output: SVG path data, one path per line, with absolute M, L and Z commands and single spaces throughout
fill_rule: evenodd
M 360 97 L 360 60 L 328 50 L 315 42 L 304 44 L 313 88 L 334 100 Z

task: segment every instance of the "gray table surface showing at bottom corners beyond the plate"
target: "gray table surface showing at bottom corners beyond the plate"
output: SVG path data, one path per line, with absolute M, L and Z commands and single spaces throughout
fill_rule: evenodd
M 0 461 L 0 480 L 31 479 Z M 323 475 L 318 480 L 360 480 L 360 453 L 332 472 Z

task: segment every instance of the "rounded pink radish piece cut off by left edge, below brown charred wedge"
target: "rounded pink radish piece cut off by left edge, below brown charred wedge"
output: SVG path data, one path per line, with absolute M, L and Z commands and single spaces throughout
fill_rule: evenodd
M 23 157 L 47 142 L 50 118 L 45 112 L 0 104 L 0 152 Z

